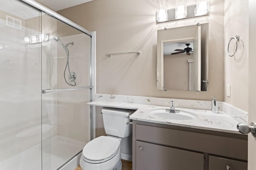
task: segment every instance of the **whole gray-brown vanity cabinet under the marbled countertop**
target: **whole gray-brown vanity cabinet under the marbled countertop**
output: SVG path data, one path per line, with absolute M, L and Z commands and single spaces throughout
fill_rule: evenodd
M 247 170 L 247 135 L 133 121 L 133 170 Z

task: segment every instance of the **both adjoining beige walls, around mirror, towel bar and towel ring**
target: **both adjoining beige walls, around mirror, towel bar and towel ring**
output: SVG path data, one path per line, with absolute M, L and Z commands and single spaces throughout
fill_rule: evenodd
M 165 0 L 94 0 L 58 12 L 97 33 L 97 93 L 199 100 L 211 100 L 211 96 L 216 95 L 218 100 L 247 111 L 248 0 L 226 0 L 225 16 L 224 0 L 211 0 L 210 16 L 157 24 L 156 10 L 174 5 L 175 2 Z M 157 30 L 196 22 L 209 23 L 209 91 L 156 90 Z M 240 35 L 238 52 L 235 57 L 228 57 L 228 41 L 236 34 Z M 139 57 L 105 56 L 126 51 L 141 51 L 142 54 Z M 230 98 L 226 96 L 227 84 L 231 85 Z

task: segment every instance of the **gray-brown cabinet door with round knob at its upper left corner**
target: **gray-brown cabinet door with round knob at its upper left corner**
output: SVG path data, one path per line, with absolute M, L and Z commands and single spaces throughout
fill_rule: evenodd
M 136 170 L 204 170 L 204 154 L 136 141 Z

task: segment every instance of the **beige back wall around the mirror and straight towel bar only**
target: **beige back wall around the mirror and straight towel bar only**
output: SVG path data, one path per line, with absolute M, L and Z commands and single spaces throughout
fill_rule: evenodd
M 211 0 L 211 4 L 209 16 L 159 24 L 156 23 L 156 11 L 162 6 L 174 8 L 175 1 L 94 0 L 58 13 L 90 31 L 96 31 L 97 93 L 198 100 L 211 100 L 216 95 L 223 101 L 224 0 Z M 209 91 L 156 90 L 157 30 L 197 22 L 209 23 Z M 106 53 L 130 51 L 141 51 L 141 55 L 105 56 Z

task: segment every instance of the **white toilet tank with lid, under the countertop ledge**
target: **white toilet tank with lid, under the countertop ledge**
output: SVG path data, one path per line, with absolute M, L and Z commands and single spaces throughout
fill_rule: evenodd
M 126 124 L 130 121 L 129 116 L 136 110 L 103 107 L 102 115 L 104 129 L 107 135 L 116 137 L 128 137 L 132 134 L 132 125 Z

